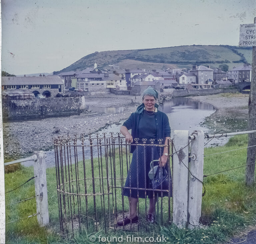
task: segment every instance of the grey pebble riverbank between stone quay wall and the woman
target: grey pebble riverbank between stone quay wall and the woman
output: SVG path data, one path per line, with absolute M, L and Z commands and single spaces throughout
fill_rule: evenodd
M 128 118 L 140 103 L 141 97 L 138 96 L 94 95 L 93 97 L 86 97 L 86 105 L 124 107 L 124 111 L 114 114 L 85 111 L 81 115 L 69 117 L 3 123 L 4 157 L 15 160 L 28 157 L 34 151 L 47 151 L 53 148 L 52 138 L 57 136 L 95 133 L 107 125 L 119 123 Z M 54 127 L 59 128 L 59 133 L 55 133 Z

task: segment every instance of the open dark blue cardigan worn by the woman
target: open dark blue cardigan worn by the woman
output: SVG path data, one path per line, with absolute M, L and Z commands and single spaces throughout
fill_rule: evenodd
M 133 138 L 133 143 L 135 143 L 134 138 L 138 138 L 138 125 L 139 125 L 139 120 L 142 116 L 142 113 L 132 113 L 130 117 L 123 123 L 123 126 L 125 126 L 128 130 L 132 129 L 132 138 Z M 156 137 L 158 139 L 163 139 L 163 144 L 164 140 L 166 137 L 171 136 L 171 128 L 169 124 L 169 119 L 167 115 L 161 111 L 157 111 L 155 113 L 155 121 L 156 121 Z M 142 139 L 142 138 L 140 138 Z M 158 144 L 158 141 L 157 141 Z M 131 145 L 130 152 L 133 153 L 135 149 L 135 145 Z

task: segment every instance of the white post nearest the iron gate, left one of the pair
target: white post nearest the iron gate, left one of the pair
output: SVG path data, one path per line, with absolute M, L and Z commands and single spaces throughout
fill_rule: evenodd
M 188 136 L 188 130 L 175 130 L 173 136 L 173 223 L 178 227 L 188 218 Z

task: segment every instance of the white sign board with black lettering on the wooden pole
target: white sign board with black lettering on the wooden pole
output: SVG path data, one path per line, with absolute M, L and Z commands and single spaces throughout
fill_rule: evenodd
M 256 46 L 256 24 L 240 25 L 239 47 Z

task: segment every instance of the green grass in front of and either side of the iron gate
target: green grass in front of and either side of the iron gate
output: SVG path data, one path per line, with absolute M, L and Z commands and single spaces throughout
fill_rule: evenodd
M 225 146 L 206 148 L 205 156 L 246 147 L 246 145 L 246 136 L 236 136 L 231 138 Z M 89 164 L 89 162 L 87 163 Z M 245 164 L 246 149 L 206 156 L 204 158 L 204 175 L 214 174 Z M 32 176 L 32 167 L 22 167 L 21 170 L 14 173 L 5 174 L 6 191 L 14 189 Z M 140 230 L 140 232 L 127 232 L 122 230 L 114 232 L 109 230 L 106 235 L 103 229 L 95 233 L 93 230 L 94 226 L 91 226 L 89 233 L 84 228 L 82 233 L 75 233 L 74 237 L 67 237 L 59 234 L 55 168 L 49 168 L 47 169 L 47 187 L 50 226 L 48 228 L 40 228 L 37 224 L 36 217 L 30 217 L 8 224 L 6 226 L 6 243 L 98 243 L 98 241 L 90 241 L 89 238 L 92 234 L 95 235 L 96 240 L 98 240 L 99 235 L 106 237 L 121 237 L 123 235 L 123 238 L 125 238 L 130 234 L 142 238 L 156 238 L 158 235 L 160 237 L 163 235 L 168 238 L 166 240 L 169 243 L 178 244 L 221 243 L 255 221 L 256 187 L 246 187 L 244 176 L 245 167 L 204 178 L 206 194 L 202 198 L 201 217 L 201 221 L 204 225 L 200 229 L 177 229 L 173 225 L 165 225 L 165 227 L 153 225 L 150 226 L 147 231 L 143 229 Z M 6 204 L 32 197 L 34 194 L 34 182 L 32 180 L 19 189 L 6 193 Z M 141 202 L 142 201 L 143 200 L 141 200 Z M 91 204 L 89 208 L 89 210 L 93 211 L 93 204 Z M 6 223 L 25 218 L 33 213 L 36 213 L 35 199 L 6 206 Z M 141 216 L 141 218 L 143 217 Z M 121 243 L 130 242 L 122 241 Z

